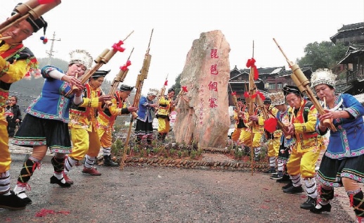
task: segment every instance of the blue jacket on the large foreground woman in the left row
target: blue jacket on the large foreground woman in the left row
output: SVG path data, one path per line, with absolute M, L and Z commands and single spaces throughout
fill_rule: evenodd
M 48 72 L 51 70 L 63 72 L 49 65 L 41 69 L 41 75 L 45 78 L 43 89 L 25 112 L 36 117 L 68 123 L 73 95 L 67 98 L 65 94 L 70 91 L 71 86 L 67 82 L 50 77 Z

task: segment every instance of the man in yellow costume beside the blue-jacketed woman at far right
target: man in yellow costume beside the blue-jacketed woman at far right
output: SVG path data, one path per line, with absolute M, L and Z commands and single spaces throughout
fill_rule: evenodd
M 306 184 L 307 200 L 301 204 L 301 208 L 310 210 L 314 208 L 317 200 L 316 163 L 320 150 L 325 148 L 323 139 L 316 132 L 317 109 L 303 98 L 298 87 L 283 87 L 286 102 L 290 105 L 288 110 L 292 122 L 288 126 L 288 135 L 294 136 L 296 143 L 292 148 L 290 159 L 287 162 L 287 172 L 290 174 L 292 186 L 283 189 L 284 193 L 301 193 L 301 177 Z

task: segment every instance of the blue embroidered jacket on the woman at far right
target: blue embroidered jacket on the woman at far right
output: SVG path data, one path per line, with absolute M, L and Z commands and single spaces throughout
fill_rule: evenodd
M 364 107 L 350 94 L 339 94 L 330 110 L 345 110 L 350 118 L 333 120 L 336 132 L 330 131 L 329 144 L 325 155 L 332 159 L 350 158 L 364 155 Z M 316 131 L 323 135 L 316 125 Z

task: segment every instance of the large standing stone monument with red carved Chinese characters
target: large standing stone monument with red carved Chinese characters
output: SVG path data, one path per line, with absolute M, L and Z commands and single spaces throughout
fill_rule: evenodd
M 186 86 L 188 92 L 176 107 L 174 133 L 178 143 L 197 141 L 202 147 L 226 146 L 230 126 L 229 52 L 230 45 L 220 30 L 203 32 L 200 39 L 193 41 L 181 73 L 181 86 Z

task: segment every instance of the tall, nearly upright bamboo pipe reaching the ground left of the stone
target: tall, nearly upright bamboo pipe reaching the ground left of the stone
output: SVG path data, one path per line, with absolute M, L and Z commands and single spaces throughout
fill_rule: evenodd
M 136 94 L 134 96 L 133 107 L 137 107 L 137 108 L 138 108 L 138 105 L 139 105 L 139 100 L 141 99 L 141 89 L 143 87 L 144 79 L 147 79 L 147 77 L 148 77 L 148 72 L 149 72 L 149 67 L 150 67 L 150 60 L 152 59 L 152 56 L 149 53 L 149 51 L 150 51 L 150 42 L 152 42 L 152 34 L 153 34 L 153 30 L 152 30 L 152 33 L 150 34 L 148 49 L 147 49 L 147 52 L 145 53 L 145 56 L 144 56 L 143 67 L 141 68 L 141 72 L 138 74 L 138 77 L 136 78 L 136 84 L 135 84 Z M 124 169 L 124 163 L 125 163 L 125 159 L 126 159 L 126 151 L 129 148 L 129 140 L 130 140 L 130 136 L 131 136 L 131 127 L 133 126 L 133 122 L 134 122 L 134 119 L 136 117 L 138 117 L 138 114 L 136 114 L 136 113 L 131 114 L 129 130 L 128 130 L 128 134 L 126 136 L 126 140 L 125 140 L 125 144 L 124 144 L 124 150 L 122 151 L 122 158 L 120 159 L 120 170 Z

